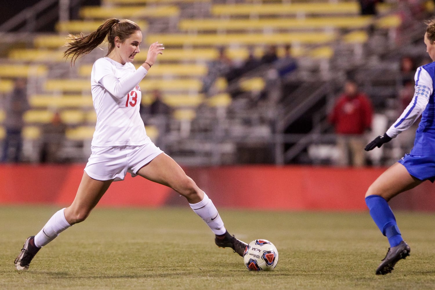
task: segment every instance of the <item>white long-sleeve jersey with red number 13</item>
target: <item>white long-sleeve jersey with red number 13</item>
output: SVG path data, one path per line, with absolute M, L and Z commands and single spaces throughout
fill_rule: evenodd
M 91 91 L 97 125 L 92 145 L 98 147 L 142 145 L 146 140 L 144 122 L 139 113 L 139 82 L 147 70 L 132 63 L 117 63 L 103 57 L 95 61 L 91 72 Z

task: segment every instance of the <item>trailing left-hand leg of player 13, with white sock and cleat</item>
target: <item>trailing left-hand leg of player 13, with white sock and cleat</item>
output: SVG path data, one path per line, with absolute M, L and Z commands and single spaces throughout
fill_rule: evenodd
M 69 207 L 54 213 L 36 236 L 27 238 L 20 254 L 15 259 L 15 268 L 17 270 L 28 270 L 30 262 L 41 247 L 50 243 L 74 223 L 84 221 L 109 188 L 110 183 L 112 183 L 112 180 L 94 180 L 84 172 L 73 203 Z

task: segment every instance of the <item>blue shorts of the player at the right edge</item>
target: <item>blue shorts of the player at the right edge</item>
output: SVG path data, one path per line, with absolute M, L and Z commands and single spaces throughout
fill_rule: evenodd
M 419 180 L 430 180 L 432 183 L 435 181 L 435 155 L 405 154 L 398 163 Z

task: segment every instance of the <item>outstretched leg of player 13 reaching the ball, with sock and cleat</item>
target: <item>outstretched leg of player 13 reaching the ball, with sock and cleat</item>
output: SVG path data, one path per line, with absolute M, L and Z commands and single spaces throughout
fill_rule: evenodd
M 215 243 L 219 247 L 231 247 L 234 252 L 243 256 L 247 244 L 228 233 L 211 199 L 171 157 L 161 153 L 138 170 L 137 174 L 148 180 L 171 187 L 186 197 L 192 210 L 207 223 L 207 226 L 216 235 Z

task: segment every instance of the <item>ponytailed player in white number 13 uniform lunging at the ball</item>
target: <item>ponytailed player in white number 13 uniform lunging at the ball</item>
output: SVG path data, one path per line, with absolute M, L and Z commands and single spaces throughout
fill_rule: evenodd
M 231 247 L 242 256 L 246 243 L 231 236 L 224 227 L 218 210 L 207 195 L 181 167 L 151 142 L 139 115 L 141 88 L 139 82 L 150 71 L 157 56 L 163 53 L 161 43 L 152 43 L 146 61 L 137 70 L 131 63 L 142 42 L 140 27 L 130 20 L 108 19 L 97 30 L 83 37 L 70 36 L 65 57 L 74 63 L 107 37 L 106 57 L 95 61 L 91 73 L 91 90 L 97 124 L 92 139 L 92 153 L 73 203 L 54 213 L 36 236 L 28 237 L 15 260 L 17 270 L 27 270 L 41 247 L 62 231 L 84 221 L 109 188 L 131 173 L 164 184 L 186 197 L 191 208 L 215 233 L 219 247 Z

